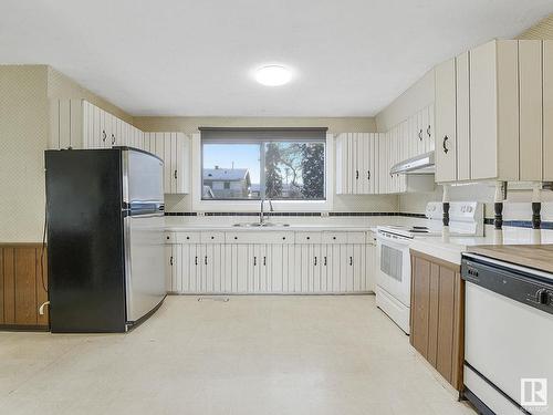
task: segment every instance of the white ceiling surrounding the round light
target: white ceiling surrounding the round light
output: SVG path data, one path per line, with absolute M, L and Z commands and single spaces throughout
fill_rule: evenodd
M 133 115 L 371 116 L 552 0 L 1 0 L 0 63 L 45 63 Z M 283 63 L 280 87 L 251 71 Z

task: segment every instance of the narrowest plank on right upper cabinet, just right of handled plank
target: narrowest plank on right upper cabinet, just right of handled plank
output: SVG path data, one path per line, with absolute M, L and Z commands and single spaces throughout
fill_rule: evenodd
M 456 58 L 457 80 L 457 179 L 470 179 L 470 86 L 469 86 L 469 52 Z

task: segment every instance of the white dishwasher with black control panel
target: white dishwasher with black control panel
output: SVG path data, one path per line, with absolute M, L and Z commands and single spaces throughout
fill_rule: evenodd
M 463 396 L 482 414 L 553 414 L 553 274 L 472 253 L 461 274 Z

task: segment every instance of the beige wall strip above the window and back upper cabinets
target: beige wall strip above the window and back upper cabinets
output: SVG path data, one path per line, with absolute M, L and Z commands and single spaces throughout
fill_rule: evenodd
M 146 132 L 196 133 L 198 127 L 328 127 L 331 133 L 373 133 L 375 118 L 300 117 L 135 117 L 135 126 Z

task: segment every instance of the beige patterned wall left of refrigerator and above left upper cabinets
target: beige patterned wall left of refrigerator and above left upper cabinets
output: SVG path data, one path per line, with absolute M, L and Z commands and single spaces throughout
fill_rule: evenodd
M 44 226 L 50 100 L 82 97 L 133 117 L 46 65 L 0 65 L 0 242 L 36 242 Z

